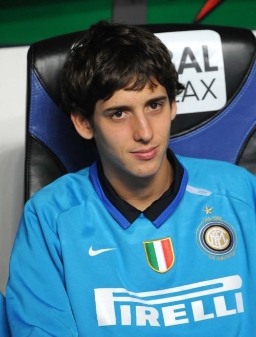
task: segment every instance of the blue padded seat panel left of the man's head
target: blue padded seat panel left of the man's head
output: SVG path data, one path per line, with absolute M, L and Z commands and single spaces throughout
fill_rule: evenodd
M 94 146 L 76 133 L 70 118 L 51 99 L 33 70 L 29 133 L 48 146 L 68 172 L 80 170 L 95 157 Z

